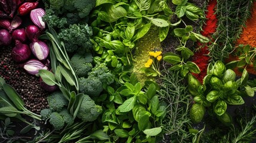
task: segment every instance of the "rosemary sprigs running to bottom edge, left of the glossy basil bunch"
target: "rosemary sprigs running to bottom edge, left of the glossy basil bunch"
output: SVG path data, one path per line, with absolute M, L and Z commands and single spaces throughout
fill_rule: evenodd
M 186 128 L 192 124 L 189 117 L 190 96 L 187 93 L 187 86 L 184 85 L 184 80 L 178 71 L 161 72 L 165 75 L 161 78 L 162 89 L 159 95 L 169 105 L 161 125 L 164 127 L 164 138 L 168 142 L 190 142 L 192 136 Z

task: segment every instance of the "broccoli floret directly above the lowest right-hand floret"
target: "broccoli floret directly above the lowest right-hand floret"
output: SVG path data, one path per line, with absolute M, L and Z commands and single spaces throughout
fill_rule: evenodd
M 102 82 L 98 77 L 79 78 L 79 91 L 91 97 L 97 97 L 103 91 Z

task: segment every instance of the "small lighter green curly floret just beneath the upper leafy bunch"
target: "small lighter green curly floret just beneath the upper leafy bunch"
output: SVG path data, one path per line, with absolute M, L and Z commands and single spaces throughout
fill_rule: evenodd
M 97 64 L 92 71 L 88 74 L 88 77 L 98 77 L 102 83 L 110 85 L 114 82 L 114 75 L 107 68 L 106 64 Z

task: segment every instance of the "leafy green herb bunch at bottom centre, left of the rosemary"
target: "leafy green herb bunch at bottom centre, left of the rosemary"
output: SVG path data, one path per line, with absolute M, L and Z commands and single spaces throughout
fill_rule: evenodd
M 107 87 L 109 101 L 101 122 L 111 141 L 156 142 L 161 136 L 158 123 L 166 114 L 166 105 L 159 102 L 155 84 L 143 88 L 132 74 L 124 86 Z

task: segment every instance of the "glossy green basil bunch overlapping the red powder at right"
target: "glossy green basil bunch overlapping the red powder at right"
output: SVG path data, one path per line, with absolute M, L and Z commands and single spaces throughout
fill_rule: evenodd
M 209 64 L 203 85 L 192 74 L 189 74 L 187 78 L 189 92 L 195 101 L 190 109 L 190 117 L 194 123 L 201 122 L 205 109 L 209 109 L 209 111 L 213 111 L 212 115 L 217 116 L 224 125 L 229 126 L 232 123 L 232 118 L 226 112 L 227 105 L 241 105 L 244 103 L 243 95 L 254 94 L 254 91 L 248 91 L 246 70 L 241 79 L 235 80 L 235 71 L 226 70 L 221 61 L 217 61 L 214 65 Z

